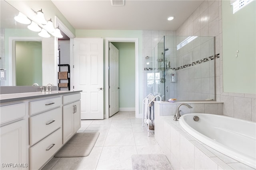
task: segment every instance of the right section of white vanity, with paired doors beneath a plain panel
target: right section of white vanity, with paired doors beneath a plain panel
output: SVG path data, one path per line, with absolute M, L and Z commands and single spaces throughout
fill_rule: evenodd
M 63 96 L 63 144 L 81 127 L 81 95 Z

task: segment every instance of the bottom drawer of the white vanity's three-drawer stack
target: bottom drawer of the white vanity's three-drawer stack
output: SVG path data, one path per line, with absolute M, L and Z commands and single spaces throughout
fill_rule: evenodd
M 40 143 L 30 147 L 30 169 L 38 170 L 44 165 L 62 146 L 62 128 L 58 129 Z

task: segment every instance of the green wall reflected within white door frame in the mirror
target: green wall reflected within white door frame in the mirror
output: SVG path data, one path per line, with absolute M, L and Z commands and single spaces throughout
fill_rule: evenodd
M 16 41 L 16 85 L 42 86 L 42 42 Z

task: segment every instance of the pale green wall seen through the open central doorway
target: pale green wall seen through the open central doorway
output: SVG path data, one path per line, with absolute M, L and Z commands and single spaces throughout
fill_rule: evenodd
M 119 50 L 119 107 L 135 108 L 135 43 L 112 43 Z

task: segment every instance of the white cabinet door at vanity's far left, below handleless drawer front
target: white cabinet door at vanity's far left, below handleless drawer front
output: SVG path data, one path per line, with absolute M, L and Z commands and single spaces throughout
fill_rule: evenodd
M 1 169 L 28 169 L 26 159 L 26 121 L 21 120 L 0 128 Z

